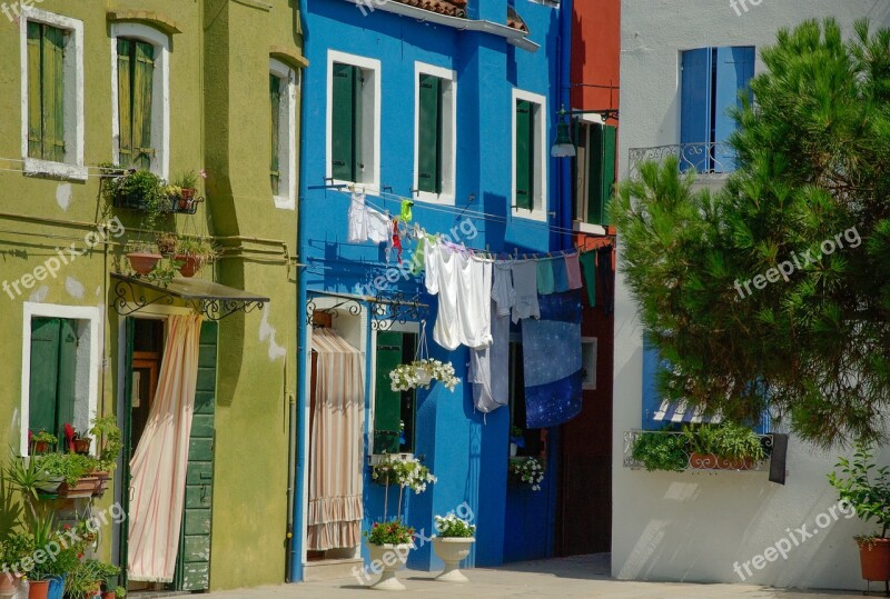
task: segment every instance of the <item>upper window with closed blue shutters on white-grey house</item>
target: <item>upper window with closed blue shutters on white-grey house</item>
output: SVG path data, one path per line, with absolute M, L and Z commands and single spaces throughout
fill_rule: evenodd
M 754 48 L 699 48 L 682 53 L 680 142 L 682 166 L 699 172 L 731 172 L 732 150 L 725 146 L 735 121 L 730 111 L 741 106 L 739 94 L 751 90 Z

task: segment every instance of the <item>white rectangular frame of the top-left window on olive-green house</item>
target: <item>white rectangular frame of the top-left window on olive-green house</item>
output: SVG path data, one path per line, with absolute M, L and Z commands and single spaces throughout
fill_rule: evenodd
M 62 64 L 65 69 L 65 162 L 28 156 L 28 22 L 58 27 L 68 32 Z M 83 21 L 62 17 L 33 6 L 21 6 L 19 19 L 21 54 L 21 156 L 27 174 L 46 174 L 76 181 L 87 180 L 83 163 Z

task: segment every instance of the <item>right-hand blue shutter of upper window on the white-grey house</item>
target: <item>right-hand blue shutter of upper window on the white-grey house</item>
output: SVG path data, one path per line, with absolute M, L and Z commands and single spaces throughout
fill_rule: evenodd
M 739 92 L 748 89 L 754 77 L 754 47 L 716 49 L 716 81 L 714 81 L 714 139 L 716 143 L 725 141 L 735 131 L 735 121 L 730 116 L 733 108 L 741 107 Z M 723 172 L 735 170 L 734 152 L 725 146 L 714 150 L 715 168 L 721 166 Z

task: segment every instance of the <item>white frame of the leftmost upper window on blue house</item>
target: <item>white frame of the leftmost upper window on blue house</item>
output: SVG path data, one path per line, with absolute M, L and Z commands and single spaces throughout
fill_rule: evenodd
M 336 50 L 327 52 L 327 114 L 325 139 L 325 177 L 332 179 L 334 167 L 330 163 L 334 122 L 334 63 L 352 64 L 363 70 L 366 84 L 362 92 L 362 156 L 365 172 L 360 181 L 334 180 L 334 184 L 355 184 L 363 191 L 378 192 L 380 189 L 380 61 L 373 58 L 347 54 Z M 370 157 L 370 158 L 368 158 Z

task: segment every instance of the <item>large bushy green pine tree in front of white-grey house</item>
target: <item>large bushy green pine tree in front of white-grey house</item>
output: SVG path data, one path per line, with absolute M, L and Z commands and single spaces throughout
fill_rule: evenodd
M 821 447 L 888 429 L 888 41 L 866 22 L 849 43 L 833 20 L 781 30 L 735 113 L 725 187 L 695 190 L 675 159 L 621 184 L 611 216 L 640 318 L 672 365 L 665 399 L 738 422 L 769 407 Z M 822 254 L 839 234 L 843 248 Z M 750 284 L 794 258 L 788 281 Z

